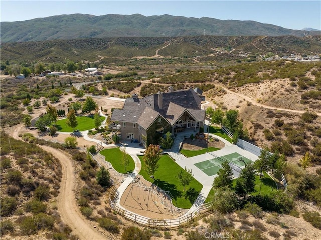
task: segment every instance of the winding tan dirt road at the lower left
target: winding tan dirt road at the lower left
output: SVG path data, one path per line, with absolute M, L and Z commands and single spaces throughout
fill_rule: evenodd
M 11 136 L 15 139 L 19 139 L 19 130 L 23 127 L 22 124 L 15 126 L 11 131 Z M 103 240 L 106 239 L 98 231 L 94 230 L 89 223 L 86 222 L 84 217 L 79 211 L 76 203 L 76 197 L 74 189 L 76 188 L 76 176 L 75 169 L 72 164 L 72 160 L 65 153 L 58 149 L 54 149 L 48 146 L 41 146 L 47 152 L 52 153 L 57 157 L 62 166 L 62 179 L 60 183 L 60 192 L 57 198 L 58 210 L 62 221 L 68 224 L 72 233 L 77 235 L 79 239 L 83 240 Z

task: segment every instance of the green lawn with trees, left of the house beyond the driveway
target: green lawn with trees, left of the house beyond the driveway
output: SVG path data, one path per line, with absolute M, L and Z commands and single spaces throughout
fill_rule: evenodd
M 105 117 L 100 117 L 100 122 L 102 122 L 105 119 Z M 69 127 L 66 122 L 67 122 L 67 118 L 65 119 L 61 119 L 58 120 L 56 122 L 56 127 L 58 129 L 58 131 L 60 132 L 73 132 L 74 129 Z M 79 131 L 85 131 L 85 130 L 89 130 L 89 129 L 93 129 L 95 128 L 95 122 L 94 122 L 94 117 L 93 116 L 78 116 L 77 117 L 77 121 L 78 121 L 78 126 L 75 127 L 76 129 L 79 129 Z

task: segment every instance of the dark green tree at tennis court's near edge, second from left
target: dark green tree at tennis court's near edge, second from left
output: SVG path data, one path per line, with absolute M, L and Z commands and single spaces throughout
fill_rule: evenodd
M 239 177 L 236 179 L 235 192 L 238 195 L 246 196 L 254 192 L 255 187 L 255 168 L 253 163 L 248 163 L 245 168 L 241 170 Z

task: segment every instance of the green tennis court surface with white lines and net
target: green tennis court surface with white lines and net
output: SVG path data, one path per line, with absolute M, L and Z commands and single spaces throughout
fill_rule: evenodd
M 212 152 L 211 155 L 215 156 Z M 215 156 L 215 158 L 206 160 L 203 162 L 195 163 L 194 165 L 203 171 L 208 176 L 216 175 L 217 172 L 221 168 L 221 164 L 225 161 L 228 161 L 232 169 L 236 170 L 237 172 L 241 171 L 241 167 L 245 166 L 245 164 L 251 162 L 250 159 L 240 155 L 237 152 L 224 155 L 224 156 Z M 233 166 L 234 165 L 234 166 Z

